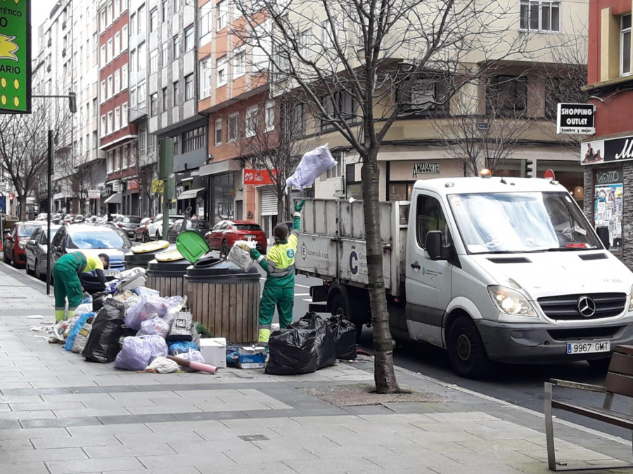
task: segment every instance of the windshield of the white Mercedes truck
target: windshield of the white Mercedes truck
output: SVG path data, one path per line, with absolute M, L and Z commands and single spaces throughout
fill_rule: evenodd
M 449 195 L 448 200 L 469 254 L 601 247 L 564 192 Z

